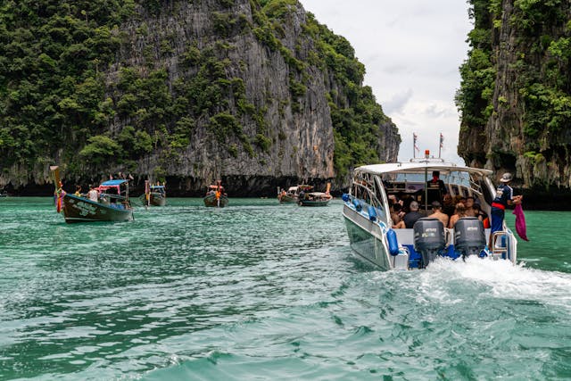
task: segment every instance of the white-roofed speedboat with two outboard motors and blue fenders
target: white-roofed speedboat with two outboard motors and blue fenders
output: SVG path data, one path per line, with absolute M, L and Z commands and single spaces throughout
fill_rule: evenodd
M 426 155 L 428 156 L 428 155 Z M 439 171 L 445 190 L 429 186 Z M 439 219 L 421 218 L 413 228 L 393 228 L 389 198 L 412 198 L 426 216 L 431 203 L 451 196 L 473 196 L 488 216 L 495 186 L 491 170 L 462 167 L 443 159 L 364 165 L 353 170 L 352 186 L 343 195 L 343 218 L 352 250 L 379 269 L 423 269 L 437 257 L 451 260 L 470 255 L 516 263 L 517 239 L 504 221 L 488 247 L 490 229 L 474 217 L 459 219 L 453 229 Z

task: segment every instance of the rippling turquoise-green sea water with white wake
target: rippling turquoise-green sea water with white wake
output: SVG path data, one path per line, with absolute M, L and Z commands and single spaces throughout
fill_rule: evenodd
M 525 211 L 517 266 L 381 272 L 342 205 L 68 225 L 50 197 L 0 199 L 0 379 L 571 378 L 571 212 Z

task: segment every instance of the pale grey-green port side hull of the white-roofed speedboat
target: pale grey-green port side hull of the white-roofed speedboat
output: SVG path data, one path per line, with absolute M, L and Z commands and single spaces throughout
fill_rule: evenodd
M 343 206 L 343 218 L 353 252 L 379 269 L 393 269 L 381 228 L 347 205 Z

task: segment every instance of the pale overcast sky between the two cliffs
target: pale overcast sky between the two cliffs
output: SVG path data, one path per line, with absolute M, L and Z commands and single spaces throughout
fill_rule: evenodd
M 459 66 L 467 57 L 466 0 L 300 0 L 306 11 L 351 42 L 365 64 L 365 85 L 399 128 L 399 160 L 412 157 L 412 133 L 418 148 L 463 164 L 457 153 L 459 114 L 454 94 Z

